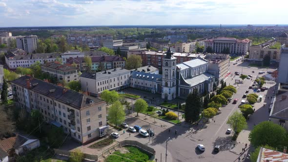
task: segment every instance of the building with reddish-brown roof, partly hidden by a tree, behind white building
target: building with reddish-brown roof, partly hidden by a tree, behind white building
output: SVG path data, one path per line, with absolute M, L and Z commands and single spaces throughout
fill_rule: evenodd
M 118 67 L 125 67 L 125 60 L 119 56 L 92 56 L 92 70 L 108 70 Z M 84 58 L 69 58 L 66 63 L 77 64 L 81 71 L 87 69 Z

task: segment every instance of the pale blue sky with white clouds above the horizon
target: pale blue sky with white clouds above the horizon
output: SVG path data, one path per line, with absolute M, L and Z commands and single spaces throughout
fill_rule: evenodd
M 0 0 L 0 27 L 288 24 L 288 0 Z

